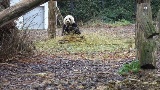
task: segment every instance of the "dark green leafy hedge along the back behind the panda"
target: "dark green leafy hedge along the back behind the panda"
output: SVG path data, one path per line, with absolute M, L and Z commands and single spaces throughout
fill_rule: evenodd
M 63 16 L 72 14 L 76 21 L 87 22 L 98 19 L 103 22 L 114 22 L 121 19 L 135 20 L 136 0 L 69 0 L 58 2 Z M 152 0 L 153 17 L 160 8 L 160 0 Z

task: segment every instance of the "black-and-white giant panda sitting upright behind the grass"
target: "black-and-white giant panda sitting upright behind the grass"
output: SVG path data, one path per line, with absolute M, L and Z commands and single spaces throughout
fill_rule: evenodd
M 74 17 L 72 15 L 67 15 L 63 20 L 63 35 L 70 35 L 70 34 L 81 34 L 77 24 L 74 21 Z

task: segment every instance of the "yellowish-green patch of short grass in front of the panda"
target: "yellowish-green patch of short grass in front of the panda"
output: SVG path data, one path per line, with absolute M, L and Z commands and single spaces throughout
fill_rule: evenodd
M 56 39 L 47 41 L 39 41 L 36 43 L 36 48 L 40 52 L 48 54 L 112 52 L 121 48 L 127 49 L 129 44 L 126 43 L 126 41 L 131 40 L 128 38 L 115 38 L 111 35 L 101 35 L 99 33 L 85 34 L 84 37 L 85 39 L 81 42 L 69 42 L 64 44 L 59 44 L 58 42 L 62 37 L 57 37 Z

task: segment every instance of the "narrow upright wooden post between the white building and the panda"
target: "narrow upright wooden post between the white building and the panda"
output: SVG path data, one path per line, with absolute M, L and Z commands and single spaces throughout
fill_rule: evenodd
M 49 19 L 48 19 L 48 37 L 49 38 L 55 38 L 56 37 L 56 23 L 57 23 L 57 18 L 56 18 L 56 5 L 57 2 L 50 0 L 48 7 L 49 7 Z

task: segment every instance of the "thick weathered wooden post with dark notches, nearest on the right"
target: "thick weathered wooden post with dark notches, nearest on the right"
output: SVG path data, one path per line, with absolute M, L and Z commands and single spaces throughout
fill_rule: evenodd
M 137 0 L 136 16 L 136 57 L 141 68 L 156 68 L 156 42 L 153 39 L 159 32 L 152 23 L 151 0 Z

